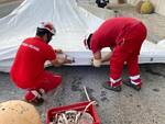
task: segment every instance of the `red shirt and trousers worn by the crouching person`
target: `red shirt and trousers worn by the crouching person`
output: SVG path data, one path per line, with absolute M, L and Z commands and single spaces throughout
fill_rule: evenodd
M 47 92 L 62 81 L 61 76 L 44 70 L 45 61 L 55 58 L 56 54 L 51 45 L 37 37 L 28 38 L 16 53 L 10 71 L 11 78 L 22 89 L 44 89 Z

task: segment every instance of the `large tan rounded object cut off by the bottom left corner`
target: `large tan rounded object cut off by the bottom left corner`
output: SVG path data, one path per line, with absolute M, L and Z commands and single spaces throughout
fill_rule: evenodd
M 35 108 L 20 100 L 0 103 L 0 124 L 42 124 Z

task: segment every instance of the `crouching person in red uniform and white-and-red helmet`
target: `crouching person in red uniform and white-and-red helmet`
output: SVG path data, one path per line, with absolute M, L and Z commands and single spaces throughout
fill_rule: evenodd
M 44 64 L 50 60 L 54 66 L 61 66 L 69 60 L 57 59 L 55 50 L 48 43 L 55 34 L 52 23 L 41 23 L 35 37 L 22 42 L 11 67 L 11 79 L 21 89 L 25 89 L 25 100 L 31 103 L 42 103 L 42 95 L 59 86 L 62 77 L 44 70 Z

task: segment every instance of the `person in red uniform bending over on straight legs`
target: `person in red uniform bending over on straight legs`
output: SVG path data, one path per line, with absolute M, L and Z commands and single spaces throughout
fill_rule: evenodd
M 123 65 L 128 65 L 130 75 L 129 81 L 123 83 L 140 90 L 142 81 L 139 69 L 139 54 L 142 43 L 146 37 L 145 25 L 132 18 L 113 18 L 105 21 L 99 29 L 86 38 L 85 45 L 92 50 L 92 65 L 99 67 L 101 63 L 110 60 L 109 81 L 103 87 L 121 91 L 121 74 Z M 110 47 L 112 53 L 106 57 L 101 57 L 101 49 Z

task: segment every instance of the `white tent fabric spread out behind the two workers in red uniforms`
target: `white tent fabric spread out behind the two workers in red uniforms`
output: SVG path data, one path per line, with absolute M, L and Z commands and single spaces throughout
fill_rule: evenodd
M 78 7 L 75 0 L 25 0 L 0 19 L 0 71 L 10 70 L 19 45 L 24 38 L 34 36 L 36 26 L 43 21 L 53 22 L 57 30 L 51 42 L 54 47 L 75 57 L 74 65 L 90 65 L 91 53 L 85 49 L 82 40 L 103 20 Z M 165 63 L 164 46 L 145 42 L 140 63 Z

